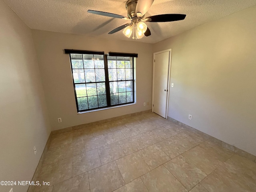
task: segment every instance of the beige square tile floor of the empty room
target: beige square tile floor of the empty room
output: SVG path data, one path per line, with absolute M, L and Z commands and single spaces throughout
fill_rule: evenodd
M 147 113 L 53 135 L 34 192 L 255 192 L 256 163 Z

